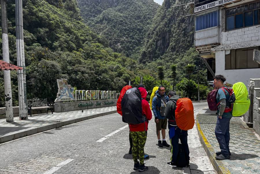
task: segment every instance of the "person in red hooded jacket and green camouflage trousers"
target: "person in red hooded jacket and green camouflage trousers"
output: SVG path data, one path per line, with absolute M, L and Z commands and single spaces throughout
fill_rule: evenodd
M 143 172 L 148 170 L 148 167 L 144 165 L 144 145 L 147 138 L 148 120 L 152 119 L 152 112 L 149 103 L 146 101 L 146 89 L 143 87 L 139 87 L 138 89 L 142 96 L 142 115 L 145 116 L 146 121 L 140 124 L 130 124 L 129 128 L 133 142 L 132 156 L 134 170 L 139 169 L 139 172 Z M 140 163 L 138 162 L 138 156 Z

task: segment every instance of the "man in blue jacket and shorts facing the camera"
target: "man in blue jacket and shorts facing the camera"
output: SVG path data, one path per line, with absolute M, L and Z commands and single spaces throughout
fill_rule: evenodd
M 166 106 L 166 103 L 168 102 L 169 98 L 166 95 L 165 87 L 159 86 L 158 90 L 155 92 L 155 96 L 153 98 L 152 102 L 152 111 L 155 117 L 155 123 L 156 123 L 156 134 L 158 138 L 158 146 L 159 147 L 170 147 L 169 144 L 167 144 L 165 139 L 165 130 L 167 128 L 167 119 L 164 116 L 164 109 Z M 162 103 L 163 102 L 163 103 Z M 160 138 L 160 131 L 162 135 L 162 142 Z

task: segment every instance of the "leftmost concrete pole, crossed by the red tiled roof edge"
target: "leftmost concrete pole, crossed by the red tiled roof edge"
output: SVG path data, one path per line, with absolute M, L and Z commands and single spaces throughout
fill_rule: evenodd
M 8 30 L 7 30 L 7 10 L 6 1 L 1 0 L 2 13 L 2 45 L 3 45 L 3 61 L 10 63 L 9 60 L 9 45 L 8 45 Z M 5 117 L 6 121 L 14 121 L 13 105 L 12 105 L 12 88 L 10 70 L 4 70 L 5 81 Z

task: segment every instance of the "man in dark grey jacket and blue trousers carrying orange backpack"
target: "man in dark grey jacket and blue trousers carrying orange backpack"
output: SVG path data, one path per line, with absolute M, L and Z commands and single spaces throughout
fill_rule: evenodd
M 168 118 L 168 129 L 169 129 L 169 138 L 171 144 L 171 161 L 167 163 L 168 166 L 177 167 L 177 155 L 179 151 L 179 139 L 183 146 L 186 159 L 188 160 L 187 166 L 189 166 L 190 161 L 190 150 L 188 146 L 188 131 L 181 130 L 177 127 L 175 122 L 175 109 L 176 102 L 180 98 L 175 91 L 170 91 L 168 93 L 169 102 L 166 105 L 164 115 Z

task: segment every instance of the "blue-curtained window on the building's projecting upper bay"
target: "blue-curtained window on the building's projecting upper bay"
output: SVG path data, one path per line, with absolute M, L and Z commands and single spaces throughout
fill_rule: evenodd
M 217 11 L 196 17 L 196 31 L 216 26 L 218 26 Z

